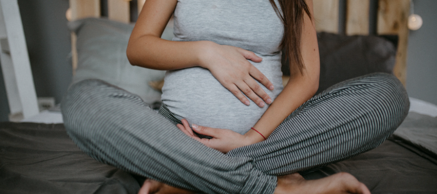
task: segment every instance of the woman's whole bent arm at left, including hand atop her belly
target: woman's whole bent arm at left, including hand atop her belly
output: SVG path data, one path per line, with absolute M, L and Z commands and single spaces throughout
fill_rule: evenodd
M 129 39 L 126 54 L 132 65 L 159 70 L 192 66 L 207 68 L 212 75 L 242 103 L 247 97 L 258 106 L 271 103 L 271 98 L 255 81 L 269 90 L 273 84 L 248 60 L 262 61 L 253 52 L 211 41 L 168 41 L 161 39 L 177 0 L 147 0 Z M 156 10 L 160 10 L 156 12 Z M 147 60 L 146 60 L 147 59 Z M 195 76 L 195 75 L 194 75 Z M 245 97 L 243 93 L 247 96 Z

